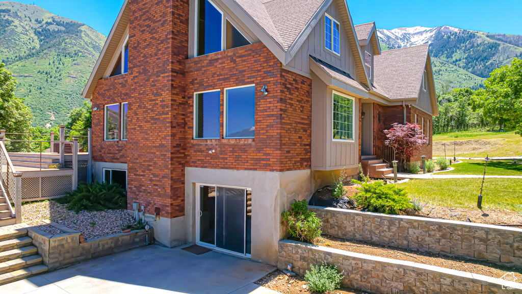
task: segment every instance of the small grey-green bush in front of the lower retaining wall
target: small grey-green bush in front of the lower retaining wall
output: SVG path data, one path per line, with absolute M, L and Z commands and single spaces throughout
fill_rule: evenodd
M 324 293 L 333 291 L 341 286 L 342 273 L 339 274 L 335 265 L 323 262 L 320 266 L 310 266 L 310 272 L 306 270 L 304 280 L 309 282 L 312 292 Z

